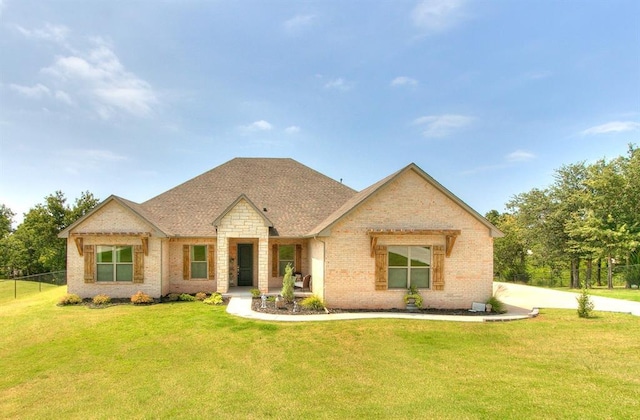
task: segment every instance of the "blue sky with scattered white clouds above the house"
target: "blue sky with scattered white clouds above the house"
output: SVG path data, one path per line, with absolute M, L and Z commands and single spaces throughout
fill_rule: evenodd
M 640 137 L 640 2 L 0 0 L 0 203 L 143 202 L 234 157 L 484 214 Z

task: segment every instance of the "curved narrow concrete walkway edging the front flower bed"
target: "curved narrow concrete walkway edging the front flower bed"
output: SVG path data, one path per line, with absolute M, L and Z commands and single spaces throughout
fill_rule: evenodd
M 402 312 L 352 312 L 337 314 L 321 314 L 321 315 L 278 315 L 263 312 L 255 312 L 251 309 L 251 296 L 233 295 L 229 300 L 227 312 L 243 318 L 257 319 L 263 321 L 284 321 L 284 322 L 308 322 L 308 321 L 340 321 L 352 319 L 422 319 L 430 321 L 456 321 L 456 322 L 500 322 L 515 321 L 527 319 L 535 316 L 537 311 L 531 311 L 523 308 L 511 308 L 511 310 L 502 315 L 431 315 L 431 314 L 413 314 Z

